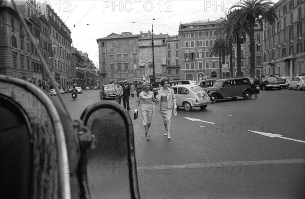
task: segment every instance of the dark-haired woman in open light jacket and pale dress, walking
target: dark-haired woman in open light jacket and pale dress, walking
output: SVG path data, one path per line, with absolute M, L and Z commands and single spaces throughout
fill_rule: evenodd
M 174 90 L 168 87 L 168 79 L 162 79 L 161 86 L 162 89 L 158 91 L 157 101 L 153 106 L 153 109 L 155 109 L 155 106 L 159 104 L 160 112 L 163 117 L 163 123 L 165 127 L 164 135 L 167 136 L 168 139 L 170 139 L 171 116 L 173 113 L 173 109 L 177 110 L 176 95 L 174 94 Z

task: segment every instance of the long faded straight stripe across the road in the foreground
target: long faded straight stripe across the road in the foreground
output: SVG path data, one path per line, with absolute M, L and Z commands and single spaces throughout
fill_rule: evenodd
M 300 164 L 305 163 L 305 159 L 284 159 L 284 160 L 261 160 L 261 161 L 229 161 L 229 162 L 216 162 L 216 163 L 191 163 L 184 165 L 150 165 L 141 166 L 138 164 L 137 170 L 158 169 L 205 169 L 205 168 L 220 168 L 220 167 L 233 167 L 233 166 L 255 166 L 255 165 L 279 165 L 279 164 Z

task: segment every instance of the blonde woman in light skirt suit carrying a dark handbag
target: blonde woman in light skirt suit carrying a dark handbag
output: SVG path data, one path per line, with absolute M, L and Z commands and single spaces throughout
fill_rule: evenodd
M 138 107 L 141 103 L 141 115 L 143 119 L 143 125 L 145 128 L 146 140 L 149 140 L 149 127 L 151 125 L 151 119 L 153 118 L 153 102 L 156 102 L 157 99 L 154 96 L 154 93 L 150 91 L 150 83 L 145 82 L 143 84 L 143 91 L 139 94 L 139 100 L 135 112 L 138 111 Z

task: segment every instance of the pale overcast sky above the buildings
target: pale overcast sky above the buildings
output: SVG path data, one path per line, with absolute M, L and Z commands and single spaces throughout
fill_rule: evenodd
M 151 31 L 151 24 L 154 24 L 155 34 L 177 35 L 180 23 L 215 21 L 225 17 L 225 12 L 238 1 L 47 2 L 70 28 L 72 45 L 77 50 L 86 52 L 99 68 L 98 38 L 106 37 L 112 32 L 139 34 L 140 31 Z

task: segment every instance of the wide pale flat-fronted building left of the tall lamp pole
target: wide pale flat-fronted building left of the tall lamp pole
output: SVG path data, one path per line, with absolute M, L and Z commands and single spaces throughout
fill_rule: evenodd
M 98 38 L 101 83 L 118 80 L 139 81 L 143 76 L 139 70 L 140 35 L 131 32 L 112 33 Z

